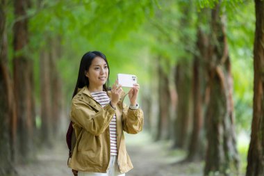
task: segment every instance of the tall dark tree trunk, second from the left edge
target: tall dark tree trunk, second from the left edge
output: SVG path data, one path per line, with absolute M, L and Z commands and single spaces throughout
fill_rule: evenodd
M 28 1 L 15 1 L 15 18 L 26 15 Z M 14 25 L 14 86 L 17 102 L 17 154 L 18 161 L 33 157 L 34 102 L 33 102 L 33 64 L 26 57 L 28 45 L 28 22 L 21 19 Z

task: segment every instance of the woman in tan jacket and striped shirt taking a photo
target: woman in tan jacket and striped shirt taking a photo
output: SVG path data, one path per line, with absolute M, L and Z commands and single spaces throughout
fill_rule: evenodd
M 142 131 L 143 112 L 137 103 L 140 86 L 135 84 L 129 91 L 127 107 L 122 86 L 116 81 L 109 91 L 108 78 L 106 56 L 99 51 L 84 54 L 71 111 L 76 145 L 69 167 L 78 175 L 124 176 L 133 168 L 123 131 Z

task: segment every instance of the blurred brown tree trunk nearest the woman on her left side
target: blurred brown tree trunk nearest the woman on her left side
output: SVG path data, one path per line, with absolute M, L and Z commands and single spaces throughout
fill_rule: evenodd
M 41 138 L 42 143 L 51 146 L 58 135 L 62 106 L 62 81 L 56 61 L 60 58 L 58 37 L 46 37 L 49 46 L 43 47 L 40 54 L 40 97 L 41 97 Z

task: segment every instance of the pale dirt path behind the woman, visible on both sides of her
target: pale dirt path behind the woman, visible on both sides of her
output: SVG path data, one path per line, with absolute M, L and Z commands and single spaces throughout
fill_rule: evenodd
M 183 152 L 172 151 L 168 143 L 152 143 L 146 134 L 127 135 L 126 143 L 133 170 L 126 176 L 201 176 L 201 163 L 174 164 Z M 42 150 L 36 161 L 16 167 L 19 176 L 72 175 L 67 168 L 67 147 L 61 143 L 51 150 Z

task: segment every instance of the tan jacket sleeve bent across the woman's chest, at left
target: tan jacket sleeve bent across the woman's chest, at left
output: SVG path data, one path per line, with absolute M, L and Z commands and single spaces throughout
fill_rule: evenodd
M 110 104 L 95 113 L 85 102 L 72 102 L 72 122 L 83 127 L 94 136 L 99 136 L 106 130 L 114 114 L 115 109 Z

